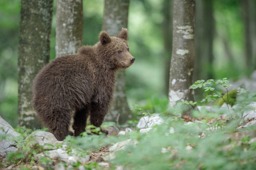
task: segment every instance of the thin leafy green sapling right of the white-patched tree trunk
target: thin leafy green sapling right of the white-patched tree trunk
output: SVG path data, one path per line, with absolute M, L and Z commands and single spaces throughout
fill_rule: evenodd
M 209 80 L 197 80 L 194 84 L 192 84 L 189 89 L 197 89 L 197 88 L 202 88 L 204 87 L 205 88 L 205 92 L 211 92 L 209 95 L 207 95 L 205 97 L 205 100 L 207 100 L 208 102 L 212 101 L 212 100 L 216 100 L 217 97 L 221 97 L 223 99 L 223 101 L 225 102 L 225 104 L 227 105 L 228 107 L 228 111 L 230 113 L 230 116 L 231 118 L 233 119 L 232 115 L 231 115 L 231 112 L 230 112 L 230 109 L 229 109 L 229 106 L 228 106 L 228 103 L 230 102 L 230 100 L 233 100 L 233 99 L 230 99 L 228 97 L 228 88 L 231 86 L 231 85 L 228 85 L 229 81 L 227 80 L 227 78 L 223 78 L 222 80 L 213 80 L 213 79 L 209 79 Z M 227 99 L 225 100 L 224 99 L 224 94 L 221 92 L 221 91 L 217 91 L 216 88 L 214 87 L 210 87 L 210 85 L 220 85 L 221 87 L 225 88 L 226 90 L 226 94 L 227 94 Z

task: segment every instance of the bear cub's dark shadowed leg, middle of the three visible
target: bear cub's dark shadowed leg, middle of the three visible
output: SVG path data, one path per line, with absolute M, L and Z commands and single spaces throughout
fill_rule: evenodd
M 74 136 L 78 136 L 80 133 L 85 131 L 87 117 L 89 115 L 89 106 L 85 106 L 78 110 L 74 115 Z

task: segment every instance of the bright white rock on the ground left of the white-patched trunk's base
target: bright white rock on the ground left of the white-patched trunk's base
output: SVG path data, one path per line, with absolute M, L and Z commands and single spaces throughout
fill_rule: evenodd
M 164 120 L 159 116 L 159 114 L 143 116 L 140 118 L 137 128 L 151 128 L 154 125 L 160 125 L 162 123 L 164 123 Z

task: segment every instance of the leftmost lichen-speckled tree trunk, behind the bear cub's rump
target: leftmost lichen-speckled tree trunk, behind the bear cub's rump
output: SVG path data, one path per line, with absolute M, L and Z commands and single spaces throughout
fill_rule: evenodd
M 18 46 L 19 125 L 40 128 L 32 109 L 31 85 L 38 71 L 49 62 L 52 0 L 21 0 Z

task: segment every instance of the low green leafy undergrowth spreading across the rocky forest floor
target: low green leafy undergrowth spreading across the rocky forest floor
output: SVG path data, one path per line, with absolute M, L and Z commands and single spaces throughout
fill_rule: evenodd
M 225 79 L 223 81 L 226 82 Z M 210 84 L 213 81 L 201 81 L 197 84 L 205 82 Z M 215 87 L 205 88 L 213 92 L 207 99 L 214 100 L 216 97 L 224 96 L 220 92 L 215 92 L 213 89 Z M 241 89 L 238 91 L 233 107 L 225 108 L 216 105 L 212 107 L 214 111 L 207 111 L 207 107 L 202 107 L 200 111 L 192 112 L 193 120 L 191 121 L 197 120 L 197 122 L 189 123 L 184 123 L 181 113 L 187 104 L 196 105 L 196 103 L 180 102 L 174 108 L 157 112 L 164 123 L 155 125 L 149 133 L 140 133 L 139 129 L 134 127 L 137 121 L 130 121 L 128 125 L 131 125 L 130 128 L 133 128 L 133 131 L 128 135 L 106 137 L 104 133 L 100 133 L 100 128 L 90 126 L 78 137 L 68 136 L 64 143 L 67 144 L 67 152 L 70 154 L 72 154 L 71 150 L 76 150 L 77 154 L 85 156 L 90 151 L 98 151 L 101 147 L 123 140 L 138 141 L 136 146 L 127 145 L 123 150 L 115 152 L 115 158 L 108 160 L 111 163 L 109 169 L 115 169 L 116 165 L 123 165 L 131 170 L 250 170 L 256 167 L 256 143 L 250 143 L 250 140 L 256 137 L 256 126 L 239 129 L 238 126 L 244 123 L 241 113 L 255 109 L 248 106 L 255 101 L 256 94 Z M 158 103 L 159 100 L 156 102 Z M 228 105 L 228 101 L 225 102 Z M 151 105 L 155 104 L 151 102 L 141 108 L 134 105 L 133 110 L 139 117 L 150 117 L 156 113 L 148 109 Z M 161 110 L 162 106 L 159 108 Z M 113 123 L 105 123 L 103 128 L 111 125 Z M 21 133 L 21 136 L 15 139 L 19 149 L 8 155 L 5 161 L 7 165 L 18 163 L 36 165 L 52 162 L 47 158 L 35 159 L 35 155 L 43 152 L 43 148 L 33 142 L 32 137 L 29 136 L 31 130 L 26 128 L 16 130 Z M 64 165 L 67 167 L 67 164 L 64 163 Z M 90 170 L 104 169 L 97 162 L 88 164 L 78 162 L 72 164 L 72 168 L 77 169 L 80 165 Z

